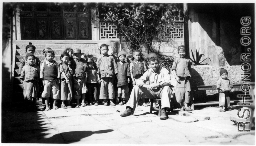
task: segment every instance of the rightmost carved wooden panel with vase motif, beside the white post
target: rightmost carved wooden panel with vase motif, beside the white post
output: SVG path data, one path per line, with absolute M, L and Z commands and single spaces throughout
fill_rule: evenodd
M 89 22 L 88 19 L 78 19 L 78 37 L 79 39 L 89 38 Z

